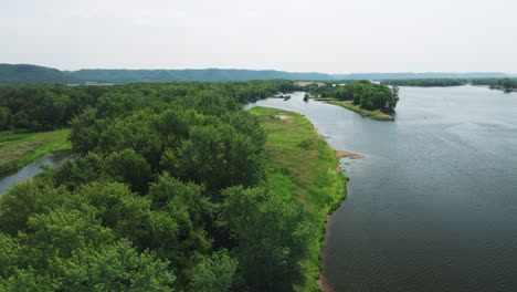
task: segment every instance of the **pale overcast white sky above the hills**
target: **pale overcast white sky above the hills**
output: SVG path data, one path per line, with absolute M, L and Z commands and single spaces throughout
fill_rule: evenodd
M 0 63 L 517 73 L 517 0 L 0 0 Z

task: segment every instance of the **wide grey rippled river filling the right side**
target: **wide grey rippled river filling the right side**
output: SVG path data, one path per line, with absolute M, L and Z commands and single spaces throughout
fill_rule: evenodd
M 330 221 L 334 291 L 517 291 L 517 93 L 401 87 L 392 123 L 319 102 L 257 105 L 306 115 L 367 156 Z

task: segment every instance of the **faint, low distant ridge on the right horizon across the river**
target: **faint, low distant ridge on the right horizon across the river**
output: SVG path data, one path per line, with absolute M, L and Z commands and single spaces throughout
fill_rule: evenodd
M 407 80 L 407 79 L 502 79 L 505 73 L 352 73 L 334 74 L 337 80 Z

